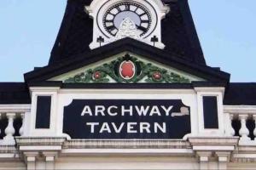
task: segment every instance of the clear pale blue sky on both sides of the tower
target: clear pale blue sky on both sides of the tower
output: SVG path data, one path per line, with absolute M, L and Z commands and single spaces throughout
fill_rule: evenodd
M 0 82 L 48 64 L 67 0 L 0 0 Z M 189 0 L 207 65 L 256 82 L 256 0 Z

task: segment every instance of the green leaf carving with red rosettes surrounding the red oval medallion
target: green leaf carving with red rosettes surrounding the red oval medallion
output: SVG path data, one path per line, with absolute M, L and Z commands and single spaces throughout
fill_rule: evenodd
M 136 65 L 136 75 L 130 80 L 125 80 L 119 75 L 119 65 L 124 60 L 131 60 Z M 166 69 L 161 69 L 151 63 L 144 63 L 135 57 L 126 54 L 124 57 L 119 57 L 109 63 L 105 63 L 95 69 L 89 69 L 82 73 L 75 75 L 74 77 L 69 77 L 65 80 L 65 83 L 90 83 L 90 82 L 110 82 L 111 77 L 115 82 L 122 83 L 135 83 L 145 80 L 149 83 L 189 83 L 190 80 L 186 77 L 182 77 L 174 72 L 166 71 Z

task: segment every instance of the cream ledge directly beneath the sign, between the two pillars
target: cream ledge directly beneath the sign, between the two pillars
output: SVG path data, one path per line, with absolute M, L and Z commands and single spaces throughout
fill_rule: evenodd
M 168 139 L 67 140 L 62 155 L 80 156 L 193 156 L 189 142 Z

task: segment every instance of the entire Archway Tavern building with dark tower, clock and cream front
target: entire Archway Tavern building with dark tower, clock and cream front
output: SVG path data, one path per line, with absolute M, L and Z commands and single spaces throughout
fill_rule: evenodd
M 256 167 L 256 84 L 206 64 L 187 0 L 68 0 L 24 78 L 0 83 L 0 169 Z

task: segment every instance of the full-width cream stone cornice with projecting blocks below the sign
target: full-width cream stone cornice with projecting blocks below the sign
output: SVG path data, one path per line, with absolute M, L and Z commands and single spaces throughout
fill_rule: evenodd
M 213 159 L 216 160 L 216 158 L 223 163 L 230 161 L 255 162 L 256 146 L 239 145 L 238 140 L 237 137 L 190 137 L 188 141 L 172 139 L 67 140 L 62 137 L 17 137 L 17 147 L 2 145 L 0 146 L 0 155 L 10 159 L 11 154 L 12 159 L 15 157 L 23 157 L 28 160 L 34 156 L 35 160 L 38 160 L 38 156 L 42 153 L 45 159 L 53 161 L 55 157 L 59 156 L 63 151 L 62 154 L 66 154 L 67 152 L 67 154 L 70 155 L 77 154 L 77 151 L 81 154 L 83 150 L 85 151 L 84 154 L 88 154 L 94 150 L 102 150 L 102 154 L 105 153 L 104 150 L 109 153 L 113 151 L 113 154 L 118 154 L 119 151 L 121 153 L 122 150 L 124 153 L 125 150 L 131 150 L 131 155 L 137 155 L 140 154 L 140 151 L 144 151 L 145 153 L 150 151 L 151 154 L 154 154 L 155 151 L 156 154 L 159 154 L 161 153 L 160 150 L 165 150 L 164 154 L 169 154 L 170 156 L 175 154 L 175 151 L 179 151 L 179 156 L 194 155 L 197 156 L 201 162 L 211 161 Z

